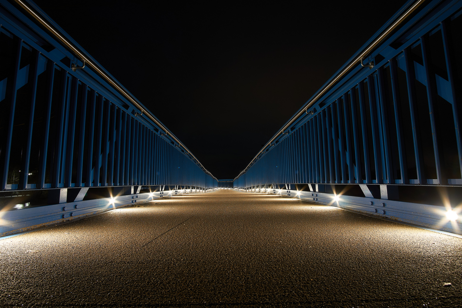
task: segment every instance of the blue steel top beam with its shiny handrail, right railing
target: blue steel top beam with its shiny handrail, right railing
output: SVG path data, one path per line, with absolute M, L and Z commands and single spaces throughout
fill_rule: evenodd
M 284 133 L 284 131 L 290 127 L 290 125 L 297 120 L 300 115 L 304 115 L 305 112 L 307 112 L 307 109 L 310 108 L 316 101 L 322 97 L 323 94 L 325 94 L 341 77 L 343 77 L 347 72 L 350 72 L 350 70 L 354 66 L 358 66 L 358 62 L 361 62 L 362 64 L 362 59 L 369 54 L 374 48 L 376 48 L 385 38 L 387 38 L 395 28 L 397 28 L 403 21 L 406 20 L 413 12 L 415 12 L 419 6 L 424 3 L 426 0 L 417 0 L 412 6 L 410 6 L 407 11 L 405 11 L 402 15 L 400 13 L 408 7 L 413 1 L 409 2 L 407 5 L 403 6 L 399 12 L 395 14 L 391 20 L 394 20 L 395 17 L 397 18 L 393 24 L 391 24 L 386 30 L 382 32 L 382 29 L 379 30 L 379 33 L 381 33 L 380 36 L 378 36 L 370 45 L 368 45 L 365 49 L 362 49 L 363 51 L 360 52 L 359 55 L 355 54 L 353 55 L 354 60 L 349 60 L 344 67 L 340 69 L 340 72 L 337 72 L 328 82 L 322 86 L 321 89 L 318 90 L 318 92 L 306 102 L 302 108 L 300 108 L 295 115 L 292 116 L 292 118 L 273 136 L 273 138 L 270 139 L 269 142 L 263 148 L 258 152 L 257 155 L 252 159 L 252 161 L 247 165 L 247 167 L 239 174 L 237 175 L 234 180 L 236 180 L 239 176 L 241 176 L 245 171 L 251 166 L 251 164 L 257 159 L 257 157 L 267 148 L 268 145 L 271 145 L 271 143 L 277 139 L 277 137 L 281 134 Z M 390 22 L 390 21 L 389 21 Z M 387 24 L 389 24 L 389 22 Z M 367 44 L 367 43 L 366 43 Z M 345 67 L 346 66 L 346 67 Z M 372 66 L 373 67 L 373 66 Z M 371 68 L 372 68 L 371 67 Z

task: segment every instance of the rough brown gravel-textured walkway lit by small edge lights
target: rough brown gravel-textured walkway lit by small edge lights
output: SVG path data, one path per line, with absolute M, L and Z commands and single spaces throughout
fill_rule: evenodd
M 262 193 L 143 205 L 1 240 L 0 307 L 462 307 L 457 237 Z

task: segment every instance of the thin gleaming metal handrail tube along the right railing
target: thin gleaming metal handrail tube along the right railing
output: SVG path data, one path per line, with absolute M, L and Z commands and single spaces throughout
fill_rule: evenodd
M 337 76 L 335 76 L 334 79 L 332 79 L 328 85 L 325 85 L 324 87 L 321 88 L 321 90 L 316 94 L 315 97 L 313 97 L 309 102 L 305 103 L 301 109 L 301 111 L 299 111 L 296 115 L 293 115 L 292 118 L 289 120 L 289 122 L 284 126 L 282 127 L 278 133 L 276 133 L 274 135 L 274 137 L 257 153 L 257 155 L 255 155 L 255 157 L 252 159 L 252 161 L 247 165 L 247 167 L 241 172 L 239 173 L 239 175 L 237 175 L 235 178 L 234 178 L 234 181 L 236 181 L 236 179 L 239 178 L 239 176 L 241 176 L 243 173 L 247 172 L 247 170 L 249 169 L 250 165 L 255 161 L 255 159 L 261 154 L 263 153 L 263 150 L 269 145 L 271 144 L 271 142 L 273 142 L 276 138 L 278 138 L 278 136 L 280 135 L 280 133 L 284 133 L 284 131 L 286 130 L 287 127 L 289 127 L 295 120 L 298 119 L 298 117 L 300 117 L 300 115 L 303 115 L 305 113 L 305 110 L 307 110 L 311 105 L 313 105 L 314 103 L 316 103 L 316 101 L 324 94 L 326 93 L 329 88 L 334 85 L 341 77 L 343 77 L 343 75 L 346 74 L 346 72 L 348 72 L 351 68 L 353 68 L 353 66 L 356 66 L 358 65 L 358 62 L 361 63 L 361 65 L 363 65 L 362 63 L 362 59 L 365 58 L 365 56 L 367 54 L 369 54 L 372 49 L 374 49 L 375 47 L 377 47 L 378 44 L 380 44 L 380 42 L 383 41 L 383 39 L 385 37 L 387 37 L 393 30 L 395 30 L 395 28 L 397 26 L 399 26 L 403 21 L 404 19 L 406 19 L 409 15 L 411 15 L 424 1 L 426 0 L 417 0 L 404 14 L 401 15 L 400 18 L 398 18 L 393 24 L 391 24 L 387 30 L 385 30 L 374 42 L 372 42 L 369 47 L 367 47 L 357 58 L 355 58 L 353 61 L 350 62 L 350 64 L 348 66 L 346 66 L 340 73 L 337 74 Z

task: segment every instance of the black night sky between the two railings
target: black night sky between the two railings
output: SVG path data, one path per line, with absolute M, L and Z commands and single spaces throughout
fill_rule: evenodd
M 36 1 L 219 179 L 405 3 L 153 2 Z

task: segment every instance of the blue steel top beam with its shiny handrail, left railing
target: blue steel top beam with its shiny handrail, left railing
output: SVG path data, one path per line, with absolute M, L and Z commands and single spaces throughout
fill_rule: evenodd
M 67 48 L 69 48 L 80 60 L 83 60 L 84 63 L 83 65 L 88 65 L 90 66 L 95 72 L 97 72 L 98 75 L 100 75 L 103 79 L 105 79 L 109 84 L 111 84 L 118 92 L 120 92 L 124 97 L 126 97 L 131 103 L 133 103 L 138 109 L 141 111 L 141 115 L 145 114 L 147 115 L 154 123 L 156 123 L 161 129 L 165 131 L 165 133 L 168 133 L 172 139 L 175 140 L 179 145 L 182 146 L 182 148 L 190 154 L 193 159 L 201 166 L 201 169 L 203 169 L 208 175 L 212 176 L 215 180 L 217 180 L 205 167 L 199 162 L 199 160 L 191 153 L 191 151 L 188 150 L 188 148 L 181 143 L 180 140 L 176 138 L 176 136 L 170 132 L 170 130 L 165 127 L 152 113 L 146 109 L 138 100 L 133 97 L 131 94 L 128 93 L 127 90 L 124 89 L 124 87 L 112 76 L 109 75 L 106 70 L 97 64 L 96 61 L 94 61 L 82 48 L 78 48 L 75 46 L 69 38 L 66 38 L 65 35 L 61 34 L 59 30 L 55 29 L 51 24 L 52 22 L 49 20 L 48 17 L 43 16 L 40 12 L 42 12 L 36 5 L 32 4 L 30 1 L 27 1 L 30 6 L 33 6 L 35 11 L 32 10 L 27 4 L 26 1 L 24 0 L 14 0 L 16 3 L 18 3 L 19 6 L 24 8 L 26 12 L 30 14 L 32 18 L 34 18 L 37 22 L 42 24 L 49 32 L 55 36 L 57 40 L 59 40 L 61 43 L 63 43 Z M 42 15 L 42 16 L 40 16 Z M 79 68 L 79 67 L 77 67 Z

